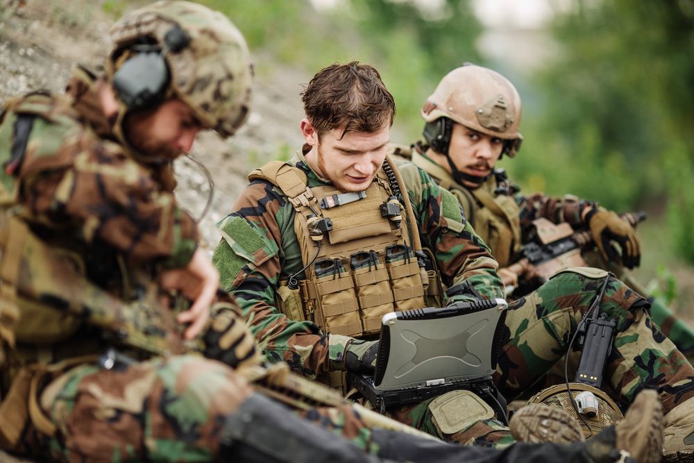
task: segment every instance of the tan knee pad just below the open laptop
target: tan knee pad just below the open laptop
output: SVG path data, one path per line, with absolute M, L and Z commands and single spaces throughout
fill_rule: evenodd
M 441 435 L 452 435 L 473 426 L 477 421 L 493 418 L 494 410 L 480 397 L 460 389 L 446 392 L 429 404 L 434 426 Z

